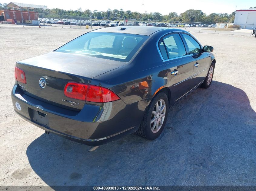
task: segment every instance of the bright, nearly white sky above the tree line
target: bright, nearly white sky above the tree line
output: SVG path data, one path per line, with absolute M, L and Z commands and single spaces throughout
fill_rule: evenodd
M 28 3 L 35 5 L 45 5 L 48 8 L 60 8 L 64 10 L 77 10 L 78 8 L 90 9 L 94 11 L 106 11 L 110 9 L 120 9 L 124 11 L 138 11 L 144 13 L 147 11 L 150 12 L 160 12 L 161 14 L 169 14 L 169 12 L 177 12 L 178 14 L 185 12 L 188 9 L 198 9 L 203 13 L 228 13 L 231 14 L 233 11 L 244 8 L 255 7 L 255 0 L 182 0 L 182 1 L 173 1 L 173 0 L 97 0 L 97 1 L 60 1 L 60 0 L 15 0 L 15 2 Z M 9 2 L 2 2 L 9 3 Z

